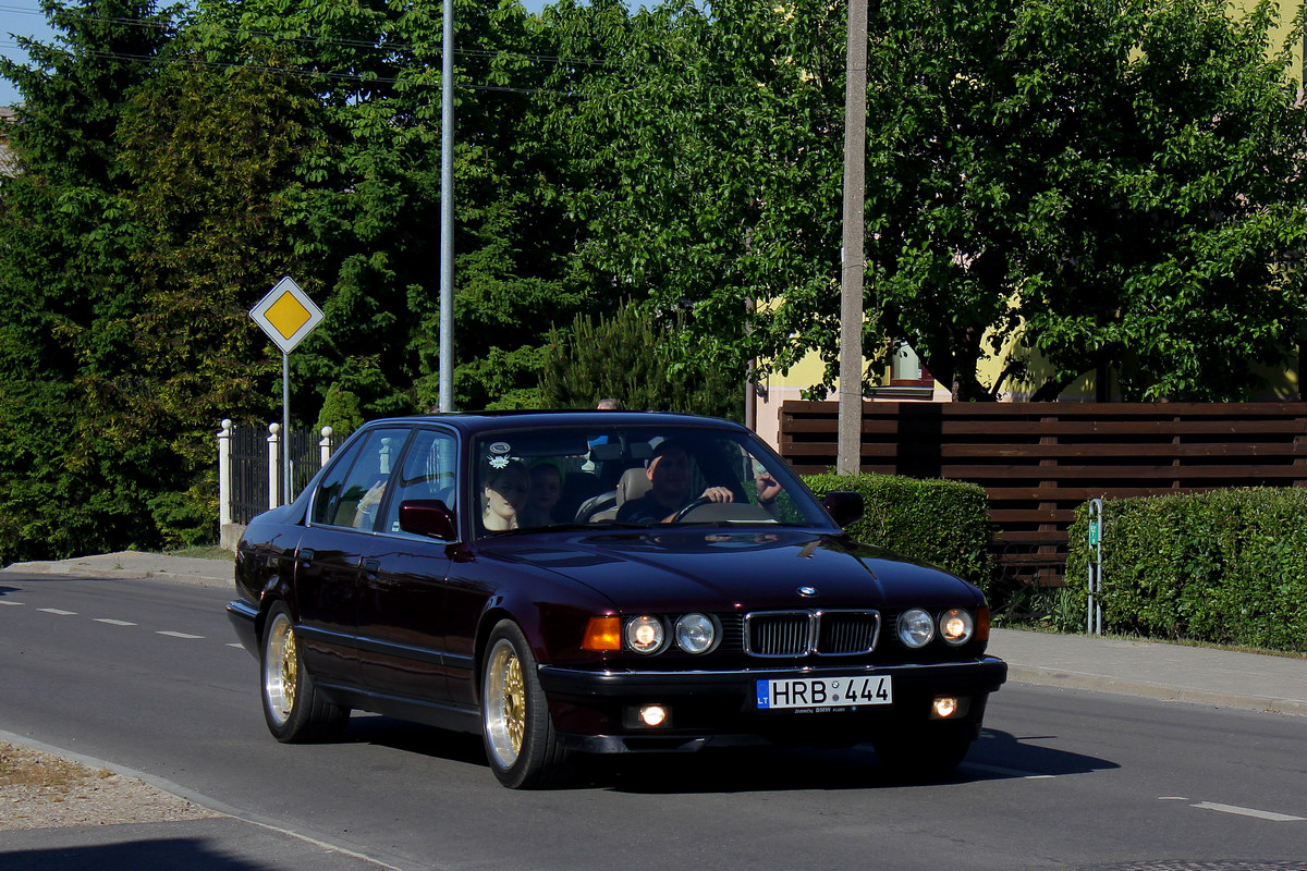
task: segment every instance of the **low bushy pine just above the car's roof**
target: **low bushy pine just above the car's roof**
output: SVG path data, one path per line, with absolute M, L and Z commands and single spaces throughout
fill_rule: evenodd
M 592 409 L 601 398 L 616 398 L 623 409 L 740 419 L 741 379 L 670 358 L 669 340 L 684 325 L 684 316 L 651 321 L 633 304 L 612 317 L 578 315 L 570 329 L 549 334 L 545 407 Z

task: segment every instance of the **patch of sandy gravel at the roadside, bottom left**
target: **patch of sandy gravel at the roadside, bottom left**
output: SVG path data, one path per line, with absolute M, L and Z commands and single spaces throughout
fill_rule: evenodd
M 0 832 L 214 816 L 144 781 L 0 742 Z

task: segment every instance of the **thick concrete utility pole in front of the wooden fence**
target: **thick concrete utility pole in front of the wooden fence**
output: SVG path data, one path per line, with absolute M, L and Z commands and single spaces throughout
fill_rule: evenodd
M 863 206 L 867 188 L 867 0 L 848 0 L 844 85 L 844 245 L 840 255 L 839 444 L 835 469 L 863 465 Z

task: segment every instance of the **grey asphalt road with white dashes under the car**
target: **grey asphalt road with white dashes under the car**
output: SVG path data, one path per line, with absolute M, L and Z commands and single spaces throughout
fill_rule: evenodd
M 227 598 L 7 573 L 0 730 L 397 868 L 1307 868 L 1300 717 L 1012 683 L 948 782 L 897 785 L 869 748 L 754 750 L 516 793 L 478 739 L 387 718 L 276 743 Z

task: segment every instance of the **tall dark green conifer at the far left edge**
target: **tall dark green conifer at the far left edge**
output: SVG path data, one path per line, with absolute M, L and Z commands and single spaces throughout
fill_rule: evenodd
M 114 135 L 170 39 L 169 12 L 137 0 L 42 4 L 54 43 L 0 59 L 22 102 L 0 179 L 0 562 L 153 538 L 163 457 L 99 435 L 97 393 L 129 388 L 123 323 L 140 311 Z M 99 385 L 90 390 L 90 384 Z

